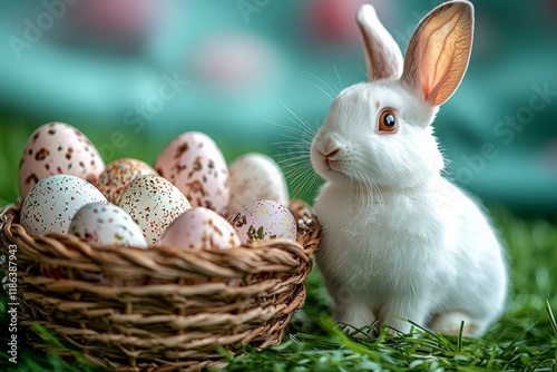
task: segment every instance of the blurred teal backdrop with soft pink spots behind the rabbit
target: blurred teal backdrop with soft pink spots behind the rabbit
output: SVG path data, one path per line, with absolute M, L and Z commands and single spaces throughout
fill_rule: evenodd
M 277 143 L 300 131 L 295 116 L 320 125 L 331 97 L 365 79 L 353 20 L 362 2 L 2 1 L 0 205 L 18 197 L 28 136 L 53 120 L 84 131 L 107 164 L 153 163 L 188 130 L 213 137 L 228 160 L 293 156 L 294 144 Z M 402 50 L 440 3 L 371 2 Z M 449 174 L 488 204 L 553 215 L 557 1 L 473 3 L 472 59 L 434 124 Z M 294 196 L 311 202 L 312 192 Z

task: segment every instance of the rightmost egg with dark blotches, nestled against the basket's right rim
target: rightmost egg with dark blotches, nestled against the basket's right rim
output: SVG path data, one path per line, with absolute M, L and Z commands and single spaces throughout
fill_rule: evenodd
M 286 237 L 296 239 L 296 221 L 286 206 L 274 200 L 257 200 L 233 214 L 228 222 L 242 243 Z

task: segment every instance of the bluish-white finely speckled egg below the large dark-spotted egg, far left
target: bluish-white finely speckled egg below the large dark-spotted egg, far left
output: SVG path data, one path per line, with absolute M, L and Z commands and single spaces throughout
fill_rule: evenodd
M 28 233 L 67 233 L 71 218 L 84 205 L 107 203 L 87 180 L 69 175 L 42 178 L 29 192 L 21 207 L 21 225 Z

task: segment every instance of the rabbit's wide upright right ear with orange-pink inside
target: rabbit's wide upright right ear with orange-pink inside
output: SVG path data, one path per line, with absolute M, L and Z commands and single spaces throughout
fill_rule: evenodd
M 421 91 L 432 106 L 446 102 L 465 76 L 472 38 L 470 2 L 451 1 L 437 7 L 412 35 L 402 79 Z

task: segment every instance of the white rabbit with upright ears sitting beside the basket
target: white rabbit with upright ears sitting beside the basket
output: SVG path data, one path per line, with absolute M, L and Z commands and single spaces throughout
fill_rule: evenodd
M 373 7 L 356 19 L 370 81 L 335 98 L 311 148 L 326 180 L 314 204 L 316 262 L 335 320 L 400 332 L 412 320 L 446 334 L 463 321 L 463 334 L 479 336 L 504 310 L 506 257 L 480 207 L 441 176 L 431 127 L 468 67 L 472 4 L 431 11 L 404 60 Z

